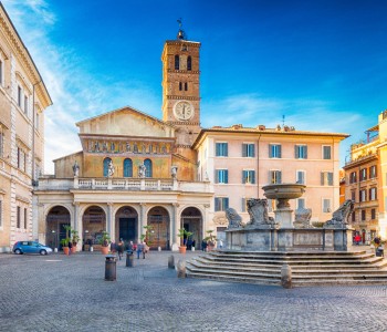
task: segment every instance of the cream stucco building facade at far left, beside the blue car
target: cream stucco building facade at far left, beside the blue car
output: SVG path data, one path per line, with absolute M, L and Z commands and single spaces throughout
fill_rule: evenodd
M 44 110 L 36 65 L 0 2 L 0 252 L 33 237 L 33 184 L 43 172 Z

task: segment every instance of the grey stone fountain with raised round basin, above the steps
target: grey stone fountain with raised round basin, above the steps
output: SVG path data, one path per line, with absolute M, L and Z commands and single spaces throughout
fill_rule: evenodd
M 229 220 L 227 234 L 228 249 L 251 251 L 348 251 L 352 246 L 352 229 L 348 218 L 353 211 L 352 200 L 347 200 L 324 227 L 310 225 L 311 210 L 295 212 L 289 200 L 302 197 L 305 186 L 300 184 L 274 184 L 262 187 L 264 196 L 276 200 L 275 218 L 268 215 L 268 199 L 249 199 L 250 221 L 242 225 L 241 217 L 232 208 L 226 211 Z

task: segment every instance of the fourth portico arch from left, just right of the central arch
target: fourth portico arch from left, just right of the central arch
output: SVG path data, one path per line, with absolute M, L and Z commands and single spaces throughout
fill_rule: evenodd
M 169 214 L 164 207 L 153 207 L 148 212 L 147 226 L 151 227 L 148 246 L 169 250 Z

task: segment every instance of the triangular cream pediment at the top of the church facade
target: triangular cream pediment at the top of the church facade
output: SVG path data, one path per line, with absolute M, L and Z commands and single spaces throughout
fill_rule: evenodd
M 175 127 L 126 106 L 76 123 L 80 134 L 174 137 Z

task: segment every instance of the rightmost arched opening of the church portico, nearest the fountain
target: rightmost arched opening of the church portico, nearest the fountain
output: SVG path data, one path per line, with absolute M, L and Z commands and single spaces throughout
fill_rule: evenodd
M 191 231 L 190 239 L 185 239 L 187 249 L 191 247 L 199 249 L 202 241 L 202 216 L 196 207 L 188 207 L 182 210 L 180 217 L 180 228 L 184 227 L 187 231 Z

